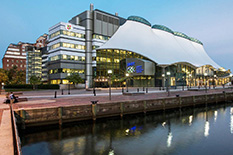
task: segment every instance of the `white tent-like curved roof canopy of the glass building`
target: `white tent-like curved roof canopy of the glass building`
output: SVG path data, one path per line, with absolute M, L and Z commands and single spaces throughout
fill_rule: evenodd
M 120 26 L 98 49 L 128 50 L 145 56 L 158 65 L 187 62 L 196 67 L 211 65 L 220 68 L 207 55 L 203 45 L 131 20 Z

